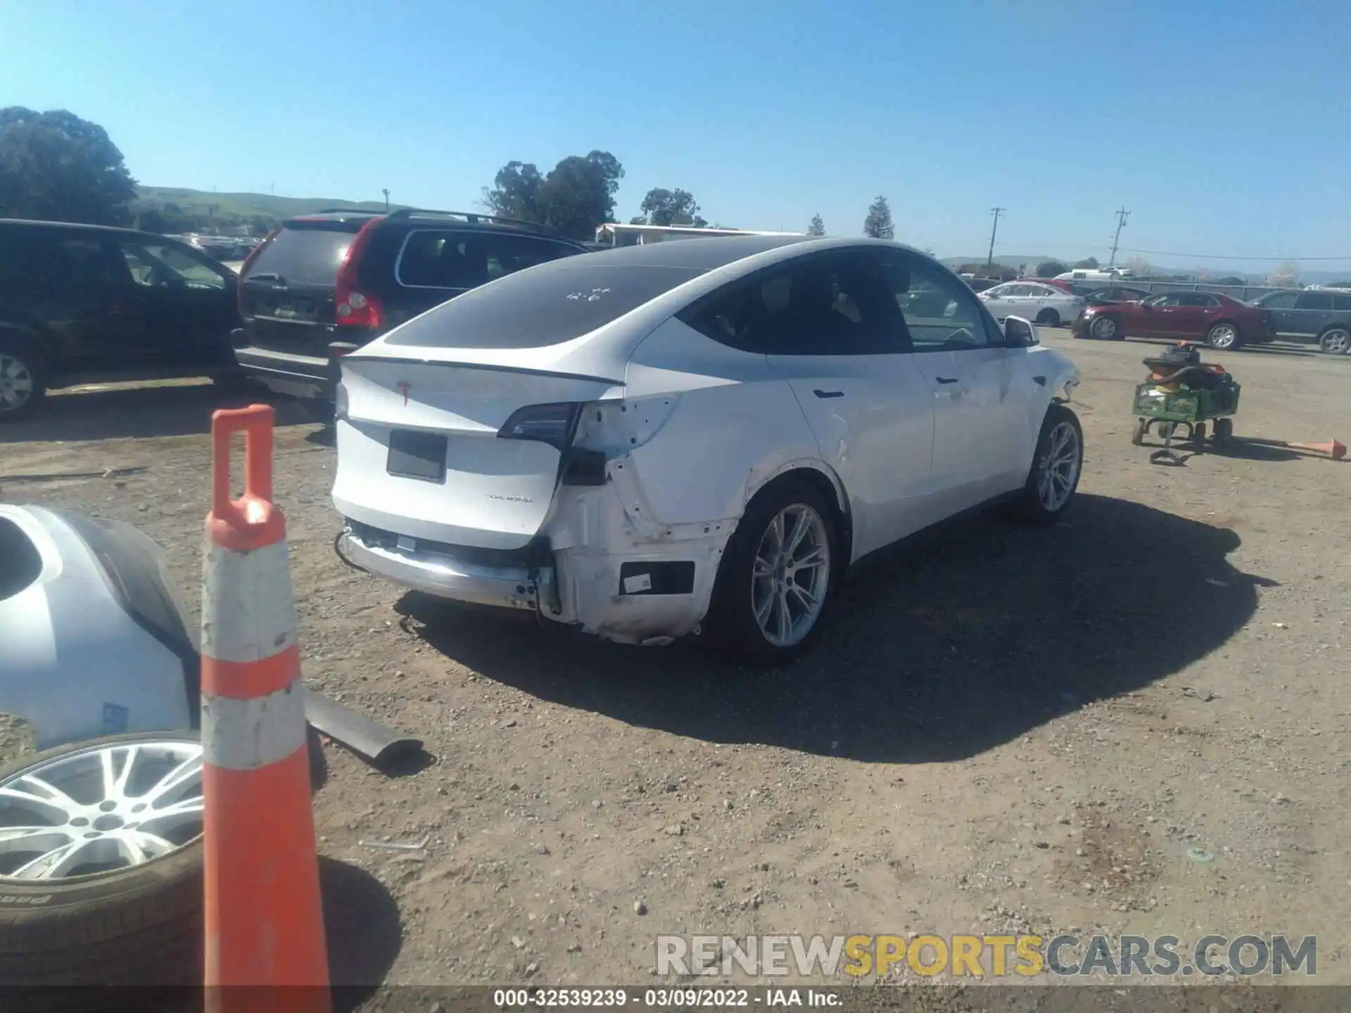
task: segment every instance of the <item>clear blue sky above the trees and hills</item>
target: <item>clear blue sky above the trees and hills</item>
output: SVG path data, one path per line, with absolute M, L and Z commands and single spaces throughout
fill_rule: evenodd
M 101 123 L 153 185 L 471 208 L 598 147 L 621 220 L 682 186 L 851 235 L 884 193 L 944 257 L 1002 205 L 996 251 L 1105 258 L 1124 204 L 1125 247 L 1351 266 L 1346 0 L 46 0 L 0 38 L 0 101 Z

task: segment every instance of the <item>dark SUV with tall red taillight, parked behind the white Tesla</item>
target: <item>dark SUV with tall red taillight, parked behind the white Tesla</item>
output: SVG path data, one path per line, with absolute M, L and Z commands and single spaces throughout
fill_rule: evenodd
M 586 253 L 542 226 L 457 211 L 320 211 L 240 269 L 235 355 L 280 393 L 331 402 L 338 357 L 504 274 Z

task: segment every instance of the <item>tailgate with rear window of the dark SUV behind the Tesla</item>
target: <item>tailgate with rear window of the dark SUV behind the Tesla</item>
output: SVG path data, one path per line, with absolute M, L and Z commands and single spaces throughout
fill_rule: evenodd
M 338 267 L 363 224 L 286 222 L 239 280 L 239 308 L 250 344 L 326 357 L 334 340 Z

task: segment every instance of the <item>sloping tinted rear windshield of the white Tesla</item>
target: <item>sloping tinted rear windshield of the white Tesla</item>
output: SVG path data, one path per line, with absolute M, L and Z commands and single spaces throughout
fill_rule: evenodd
M 703 271 L 588 265 L 588 257 L 508 274 L 396 328 L 389 344 L 420 348 L 540 348 L 581 338 Z

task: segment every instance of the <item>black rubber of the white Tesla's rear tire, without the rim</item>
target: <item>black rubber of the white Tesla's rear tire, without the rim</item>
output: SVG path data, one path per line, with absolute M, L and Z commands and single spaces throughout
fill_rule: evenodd
M 809 506 L 824 521 L 830 566 L 821 579 L 825 601 L 807 635 L 794 644 L 771 643 L 755 619 L 753 606 L 754 562 L 770 523 L 794 505 Z M 796 658 L 817 638 L 830 612 L 838 577 L 843 570 L 835 512 L 807 481 L 785 475 L 765 486 L 750 501 L 736 531 L 727 543 L 717 569 L 717 583 L 704 629 L 709 643 L 724 654 L 754 663 L 780 663 Z

